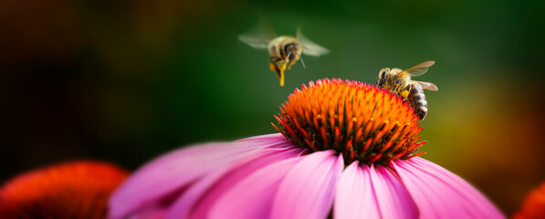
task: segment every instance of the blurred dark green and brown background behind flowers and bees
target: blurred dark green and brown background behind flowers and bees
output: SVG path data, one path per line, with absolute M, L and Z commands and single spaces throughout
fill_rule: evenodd
M 545 181 L 545 1 L 2 1 L 0 182 L 76 159 L 134 170 L 183 145 L 275 132 L 278 105 L 319 78 L 374 83 L 435 66 L 424 158 L 506 213 Z M 237 36 L 264 17 L 328 47 L 285 87 Z M 195 163 L 198 165 L 198 163 Z

